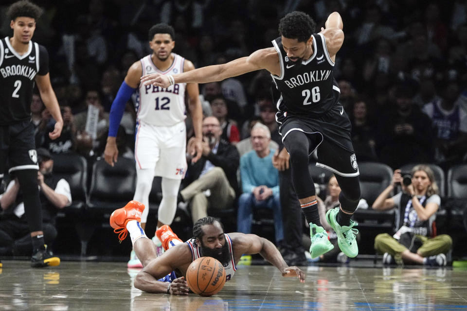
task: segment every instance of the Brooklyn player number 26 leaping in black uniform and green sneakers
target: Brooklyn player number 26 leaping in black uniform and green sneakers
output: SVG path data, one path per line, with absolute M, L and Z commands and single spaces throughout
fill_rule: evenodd
M 175 83 L 207 83 L 258 69 L 267 69 L 281 92 L 277 101 L 279 133 L 290 154 L 292 183 L 306 221 L 310 224 L 312 258 L 334 248 L 320 223 L 308 158 L 315 149 L 317 166 L 332 171 L 341 185 L 340 207 L 326 217 L 348 257 L 357 256 L 358 232 L 350 219 L 360 198 L 359 170 L 350 139 L 350 121 L 339 104 L 340 89 L 333 75 L 334 60 L 344 33 L 334 12 L 315 34 L 315 22 L 303 12 L 291 12 L 279 23 L 280 37 L 273 47 L 253 52 L 227 64 L 208 66 L 176 75 L 147 74 L 144 85 L 167 87 Z M 297 224 L 301 225 L 301 224 Z

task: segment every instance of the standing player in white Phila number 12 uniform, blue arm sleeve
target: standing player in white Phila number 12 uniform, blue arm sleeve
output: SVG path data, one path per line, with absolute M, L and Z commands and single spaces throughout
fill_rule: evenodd
M 105 160 L 110 165 L 117 162 L 118 149 L 115 141 L 118 126 L 122 120 L 125 104 L 136 91 L 136 190 L 133 199 L 149 206 L 149 192 L 154 176 L 162 176 L 162 202 L 158 210 L 158 224 L 170 225 L 177 209 L 177 194 L 181 179 L 187 169 L 185 90 L 188 94 L 188 108 L 195 131 L 197 152 L 196 162 L 202 154 L 201 122 L 202 108 L 198 84 L 180 83 L 169 87 L 144 86 L 140 83 L 144 74 L 158 72 L 162 75 L 195 69 L 193 63 L 176 53 L 174 29 L 167 24 L 157 24 L 149 29 L 149 46 L 153 51 L 135 62 L 128 69 L 122 86 L 110 108 L 109 130 Z M 145 227 L 149 208 L 144 210 L 141 226 Z M 156 244 L 160 242 L 154 237 Z M 162 250 L 162 246 L 160 246 Z M 128 267 L 142 267 L 139 259 L 131 252 Z

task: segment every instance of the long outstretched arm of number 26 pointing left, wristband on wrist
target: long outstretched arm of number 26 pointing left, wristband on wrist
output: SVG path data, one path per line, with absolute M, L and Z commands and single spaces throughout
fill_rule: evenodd
M 213 65 L 198 68 L 175 75 L 162 75 L 159 73 L 146 74 L 141 78 L 144 85 L 168 87 L 175 83 L 208 83 L 222 81 L 247 72 L 259 69 L 267 69 L 277 74 L 279 68 L 279 56 L 274 48 L 262 49 L 253 52 L 250 56 L 237 58 L 221 65 Z M 280 72 L 279 72 L 280 74 Z

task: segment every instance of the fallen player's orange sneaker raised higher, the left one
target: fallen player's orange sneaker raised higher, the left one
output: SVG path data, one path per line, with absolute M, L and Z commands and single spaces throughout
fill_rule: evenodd
M 130 201 L 126 206 L 115 209 L 110 215 L 110 226 L 114 229 L 113 232 L 118 233 L 120 242 L 125 240 L 128 230 L 126 224 L 130 220 L 141 222 L 141 215 L 143 214 L 144 204 L 138 201 Z

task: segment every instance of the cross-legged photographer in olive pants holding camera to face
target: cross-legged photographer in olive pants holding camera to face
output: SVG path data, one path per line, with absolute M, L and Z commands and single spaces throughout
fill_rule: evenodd
M 388 198 L 400 185 L 401 191 Z M 436 219 L 441 198 L 434 174 L 427 165 L 416 165 L 411 173 L 395 170 L 393 183 L 375 200 L 372 208 L 387 210 L 396 208 L 395 234 L 378 234 L 375 250 L 384 254 L 383 264 L 414 263 L 445 266 L 446 253 L 452 246 L 449 235 L 433 237 L 433 222 Z

